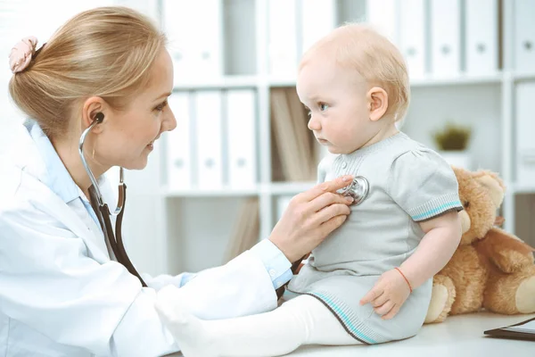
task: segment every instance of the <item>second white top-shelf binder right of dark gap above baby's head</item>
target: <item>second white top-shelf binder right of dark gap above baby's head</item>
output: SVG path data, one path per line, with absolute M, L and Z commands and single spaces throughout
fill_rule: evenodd
M 399 44 L 410 78 L 425 74 L 424 0 L 404 0 L 399 5 Z

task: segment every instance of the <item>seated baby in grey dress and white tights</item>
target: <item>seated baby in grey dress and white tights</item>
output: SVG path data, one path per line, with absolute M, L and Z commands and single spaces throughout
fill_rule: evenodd
M 304 54 L 297 92 L 309 129 L 334 154 L 320 181 L 342 174 L 369 185 L 341 228 L 290 281 L 297 295 L 274 311 L 199 320 L 177 302 L 159 311 L 186 357 L 276 356 L 300 345 L 374 345 L 415 336 L 432 277 L 461 237 L 457 179 L 438 154 L 399 132 L 407 67 L 364 25 L 334 29 Z

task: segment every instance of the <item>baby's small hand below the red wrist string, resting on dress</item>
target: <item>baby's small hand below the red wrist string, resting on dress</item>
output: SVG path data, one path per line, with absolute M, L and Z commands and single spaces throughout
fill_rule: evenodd
M 383 320 L 390 320 L 396 316 L 408 295 L 410 287 L 407 281 L 398 270 L 393 269 L 377 280 L 375 286 L 360 300 L 360 304 L 371 303 L 375 313 L 381 315 Z

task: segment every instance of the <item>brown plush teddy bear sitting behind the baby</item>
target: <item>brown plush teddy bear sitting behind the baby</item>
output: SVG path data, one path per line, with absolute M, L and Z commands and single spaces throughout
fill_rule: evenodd
M 425 323 L 481 308 L 507 315 L 535 312 L 535 249 L 496 224 L 504 182 L 489 170 L 453 170 L 465 207 L 459 212 L 463 235 L 433 278 Z

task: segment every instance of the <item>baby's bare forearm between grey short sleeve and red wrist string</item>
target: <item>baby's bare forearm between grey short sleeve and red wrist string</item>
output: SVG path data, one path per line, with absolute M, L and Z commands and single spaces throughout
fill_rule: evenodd
M 413 289 L 444 268 L 461 241 L 461 220 L 455 211 L 424 220 L 420 227 L 425 236 L 416 252 L 399 267 Z

